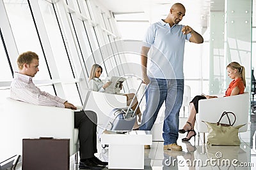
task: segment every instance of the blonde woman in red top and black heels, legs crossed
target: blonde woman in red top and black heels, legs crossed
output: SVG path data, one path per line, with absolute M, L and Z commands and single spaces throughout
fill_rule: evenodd
M 225 92 L 225 96 L 234 96 L 237 94 L 244 93 L 244 87 L 246 87 L 245 82 L 245 71 L 244 67 L 241 66 L 238 62 L 230 62 L 227 66 L 227 73 L 230 78 L 232 78 L 231 83 L 228 85 L 228 89 Z M 184 134 L 188 132 L 186 138 L 183 138 L 182 141 L 189 141 L 193 136 L 196 136 L 194 130 L 196 113 L 198 113 L 198 101 L 202 99 L 211 99 L 216 98 L 217 96 L 195 96 L 189 105 L 189 117 L 186 124 L 182 129 L 179 129 L 179 132 Z

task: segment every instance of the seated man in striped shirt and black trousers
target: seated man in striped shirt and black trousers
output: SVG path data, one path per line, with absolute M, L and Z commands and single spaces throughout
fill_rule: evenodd
M 34 52 L 24 52 L 17 59 L 19 72 L 14 73 L 11 84 L 11 98 L 26 103 L 55 106 L 76 110 L 76 106 L 58 96 L 41 91 L 32 81 L 39 71 L 39 58 Z M 28 108 L 29 109 L 29 108 Z M 75 128 L 79 128 L 79 169 L 103 169 L 108 162 L 102 162 L 97 153 L 97 115 L 93 111 L 74 112 Z

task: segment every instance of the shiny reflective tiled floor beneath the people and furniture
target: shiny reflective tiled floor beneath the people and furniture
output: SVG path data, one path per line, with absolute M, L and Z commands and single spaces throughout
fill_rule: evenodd
M 190 142 L 183 143 L 181 138 L 185 134 L 180 134 L 177 143 L 182 146 L 182 152 L 172 152 L 163 150 L 162 141 L 154 141 L 150 150 L 145 150 L 144 169 L 256 169 L 254 127 L 256 123 L 248 125 L 247 132 L 239 134 L 240 146 L 205 146 L 202 145 L 202 135 L 196 136 L 195 141 L 192 138 Z M 101 148 L 98 143 L 98 152 L 97 157 L 108 160 L 108 148 Z M 216 159 L 216 155 L 221 158 Z M 21 169 L 20 164 L 17 169 Z M 70 169 L 78 169 L 77 164 L 74 164 L 74 157 L 70 158 Z

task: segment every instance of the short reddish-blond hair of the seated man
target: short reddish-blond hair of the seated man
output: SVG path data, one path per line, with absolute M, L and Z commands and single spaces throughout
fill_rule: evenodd
M 30 64 L 33 59 L 39 60 L 36 53 L 30 51 L 21 53 L 17 59 L 19 69 L 23 69 L 24 64 Z

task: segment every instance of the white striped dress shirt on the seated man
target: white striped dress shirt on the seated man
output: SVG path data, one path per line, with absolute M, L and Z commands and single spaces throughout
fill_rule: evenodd
M 43 106 L 56 106 L 65 108 L 65 99 L 58 96 L 52 96 L 47 92 L 42 92 L 32 81 L 31 76 L 15 72 L 11 84 L 12 99 L 24 101 L 26 103 L 43 105 Z

